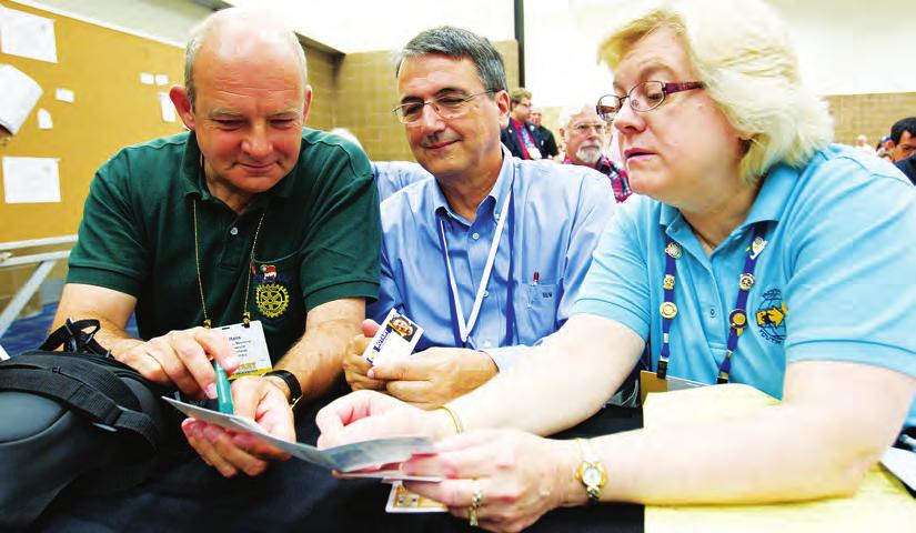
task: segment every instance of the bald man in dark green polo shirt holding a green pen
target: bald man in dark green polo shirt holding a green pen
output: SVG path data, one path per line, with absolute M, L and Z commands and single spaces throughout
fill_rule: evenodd
M 211 360 L 250 374 L 232 382 L 235 414 L 294 440 L 290 402 L 331 386 L 378 295 L 372 169 L 349 141 L 303 128 L 302 48 L 253 11 L 220 11 L 194 31 L 185 87 L 170 95 L 191 131 L 98 171 L 54 326 L 100 320 L 95 338 L 115 359 L 192 398 L 215 396 Z M 124 331 L 134 312 L 139 339 Z M 228 325 L 232 335 L 210 329 Z M 251 353 L 236 354 L 233 335 L 251 335 Z M 228 477 L 285 459 L 201 421 L 182 429 Z

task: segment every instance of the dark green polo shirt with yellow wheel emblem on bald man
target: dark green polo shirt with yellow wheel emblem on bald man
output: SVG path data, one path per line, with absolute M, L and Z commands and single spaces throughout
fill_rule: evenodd
M 378 296 L 381 224 L 369 159 L 310 129 L 290 174 L 241 215 L 210 195 L 192 133 L 121 150 L 92 181 L 68 283 L 137 296 L 143 339 L 200 325 L 194 203 L 208 316 L 213 326 L 240 322 L 250 278 L 248 310 L 274 361 L 305 331 L 312 308 Z

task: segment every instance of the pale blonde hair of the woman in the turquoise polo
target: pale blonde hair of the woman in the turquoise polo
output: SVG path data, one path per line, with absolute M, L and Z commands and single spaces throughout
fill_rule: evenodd
M 787 26 L 761 0 L 644 0 L 601 46 L 613 70 L 660 29 L 683 41 L 709 98 L 747 142 L 741 175 L 754 182 L 779 161 L 806 163 L 833 140 L 827 104 L 802 82 Z

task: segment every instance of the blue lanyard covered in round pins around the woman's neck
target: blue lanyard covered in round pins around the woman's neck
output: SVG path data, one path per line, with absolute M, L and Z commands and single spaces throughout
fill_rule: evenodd
M 766 225 L 758 223 L 754 225 L 754 235 L 751 238 L 751 245 L 747 247 L 747 259 L 744 261 L 744 270 L 738 276 L 738 298 L 735 309 L 728 313 L 728 342 L 726 344 L 725 358 L 718 365 L 718 378 L 716 383 L 728 383 L 728 374 L 732 372 L 732 355 L 738 349 L 741 334 L 747 328 L 747 294 L 754 286 L 754 269 L 757 266 L 757 258 L 766 248 L 764 235 Z M 671 322 L 677 315 L 677 305 L 674 304 L 674 282 L 677 271 L 676 261 L 682 255 L 681 244 L 674 242 L 671 237 L 665 235 L 665 278 L 662 280 L 665 300 L 658 306 L 662 315 L 662 353 L 658 355 L 658 368 L 655 374 L 665 379 L 667 375 L 668 360 L 671 359 Z

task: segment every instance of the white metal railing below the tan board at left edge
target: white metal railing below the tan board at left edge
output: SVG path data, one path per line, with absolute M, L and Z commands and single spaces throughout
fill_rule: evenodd
M 32 239 L 30 241 L 0 242 L 0 269 L 38 263 L 38 268 L 36 268 L 34 272 L 32 272 L 29 280 L 26 281 L 26 284 L 17 291 L 17 293 L 12 296 L 12 300 L 10 300 L 10 303 L 8 303 L 7 308 L 3 309 L 3 312 L 0 313 L 0 336 L 3 336 L 7 330 L 10 329 L 10 325 L 17 316 L 19 316 L 19 313 L 22 312 L 26 304 L 29 303 L 29 300 L 32 299 L 32 295 L 41 286 L 41 283 L 48 278 L 48 274 L 51 273 L 54 264 L 57 264 L 59 260 L 70 257 L 70 250 L 33 253 L 29 255 L 16 255 L 12 250 L 48 247 L 53 244 L 68 244 L 72 242 L 77 242 L 77 235 Z M 1 354 L 0 358 L 2 358 Z

